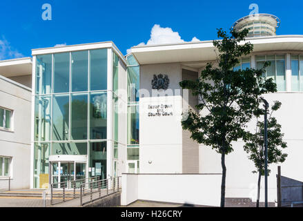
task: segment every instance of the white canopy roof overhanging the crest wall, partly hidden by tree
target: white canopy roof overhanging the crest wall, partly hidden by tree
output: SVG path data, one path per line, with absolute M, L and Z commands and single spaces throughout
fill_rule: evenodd
M 273 50 L 303 50 L 303 35 L 277 35 L 247 38 L 253 44 L 253 52 Z M 242 42 L 241 44 L 244 44 Z M 201 68 L 217 58 L 213 41 L 197 41 L 179 44 L 135 46 L 131 48 L 139 64 L 182 63 Z

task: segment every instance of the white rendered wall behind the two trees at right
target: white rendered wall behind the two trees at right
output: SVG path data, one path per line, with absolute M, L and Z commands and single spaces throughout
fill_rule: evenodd
M 281 165 L 282 175 L 295 180 L 303 181 L 303 93 L 274 93 L 264 95 L 271 105 L 274 100 L 282 102 L 279 111 L 273 113 L 279 124 L 282 125 L 284 141 L 288 147 L 284 150 L 289 156 Z M 255 128 L 255 121 L 248 124 L 248 128 Z M 252 198 L 257 197 L 257 174 L 251 173 L 255 166 L 243 150 L 244 142 L 233 144 L 234 151 L 226 156 L 226 198 Z M 220 155 L 211 148 L 199 146 L 200 173 L 222 173 Z M 277 201 L 277 164 L 272 164 L 268 169 L 268 202 Z M 261 182 L 260 201 L 264 202 L 264 179 Z

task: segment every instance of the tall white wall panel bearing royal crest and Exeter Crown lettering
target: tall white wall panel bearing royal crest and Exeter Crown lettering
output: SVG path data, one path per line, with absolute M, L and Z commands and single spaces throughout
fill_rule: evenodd
M 153 75 L 168 75 L 169 89 L 157 97 L 152 90 Z M 179 64 L 155 64 L 140 66 L 140 88 L 144 95 L 139 100 L 139 168 L 140 173 L 182 173 L 182 96 L 179 90 L 181 67 Z M 166 93 L 167 96 L 164 95 Z M 156 113 L 148 105 L 173 105 L 170 116 L 149 117 Z

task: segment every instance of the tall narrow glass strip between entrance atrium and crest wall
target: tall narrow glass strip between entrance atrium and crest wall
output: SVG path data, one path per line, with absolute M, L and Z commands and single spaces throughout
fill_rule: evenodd
M 139 173 L 139 64 L 133 55 L 127 58 L 127 156 L 129 161 L 137 161 L 137 173 Z M 134 165 L 132 163 L 128 165 Z M 136 171 L 128 168 L 128 171 Z

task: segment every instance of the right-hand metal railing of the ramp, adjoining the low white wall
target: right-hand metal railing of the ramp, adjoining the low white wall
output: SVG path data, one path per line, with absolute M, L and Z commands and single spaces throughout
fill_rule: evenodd
M 121 177 L 111 177 L 81 185 L 80 206 L 121 191 Z

